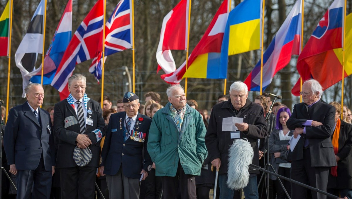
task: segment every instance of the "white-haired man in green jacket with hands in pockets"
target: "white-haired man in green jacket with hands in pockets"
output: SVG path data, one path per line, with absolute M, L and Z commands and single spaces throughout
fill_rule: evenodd
M 162 177 L 164 198 L 177 198 L 180 186 L 182 199 L 196 199 L 194 176 L 200 175 L 208 155 L 206 128 L 200 113 L 186 103 L 181 85 L 172 85 L 166 94 L 169 103 L 153 116 L 147 149 L 156 176 Z

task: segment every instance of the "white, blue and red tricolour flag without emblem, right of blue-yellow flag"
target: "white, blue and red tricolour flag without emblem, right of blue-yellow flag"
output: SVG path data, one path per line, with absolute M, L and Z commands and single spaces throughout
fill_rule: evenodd
M 292 55 L 301 53 L 301 28 L 302 0 L 297 0 L 263 55 L 263 90 L 271 83 L 277 71 L 290 62 Z M 260 91 L 260 61 L 244 81 L 252 91 Z

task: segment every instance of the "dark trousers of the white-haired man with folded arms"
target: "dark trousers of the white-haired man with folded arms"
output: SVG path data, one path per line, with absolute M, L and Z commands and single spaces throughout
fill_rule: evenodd
M 314 155 L 314 154 L 312 154 Z M 310 151 L 303 149 L 303 158 L 292 161 L 291 177 L 303 184 L 319 188 L 326 192 L 329 167 L 312 167 L 310 164 Z M 291 183 L 292 199 L 307 198 L 307 188 Z M 326 199 L 326 195 L 312 191 L 313 199 Z

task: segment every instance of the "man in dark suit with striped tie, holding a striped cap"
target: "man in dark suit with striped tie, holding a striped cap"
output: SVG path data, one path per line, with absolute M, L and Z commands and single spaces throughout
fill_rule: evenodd
M 101 105 L 85 93 L 84 75 L 71 76 L 68 89 L 68 98 L 55 104 L 54 108 L 55 134 L 59 138 L 56 167 L 60 168 L 61 197 L 93 199 L 99 141 L 105 134 Z M 91 158 L 78 161 L 80 151 Z

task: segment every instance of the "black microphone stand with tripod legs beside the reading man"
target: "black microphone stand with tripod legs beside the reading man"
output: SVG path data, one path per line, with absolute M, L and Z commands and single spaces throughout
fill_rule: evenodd
M 271 106 L 270 106 L 270 109 L 269 109 L 269 111 L 268 111 L 268 114 L 266 114 L 266 116 L 265 116 L 265 121 L 267 121 L 267 122 L 268 122 L 268 120 L 269 120 L 270 111 L 271 111 L 272 106 L 274 105 L 276 99 L 277 99 L 277 97 L 274 97 L 274 101 L 272 102 L 272 104 L 271 104 Z M 271 168 L 272 171 L 274 171 L 274 172 L 276 173 L 274 167 L 273 167 L 273 166 L 270 164 L 270 162 L 269 162 L 269 154 L 270 154 L 270 153 L 269 153 L 269 138 L 270 138 L 270 134 L 268 134 L 268 136 L 267 136 L 267 138 L 266 138 L 267 140 L 266 140 L 266 142 L 265 142 L 266 164 L 265 164 L 265 166 L 264 166 L 264 170 L 265 170 L 265 169 L 269 170 L 269 169 Z M 261 170 L 260 170 L 260 171 L 261 171 Z M 265 186 L 266 198 L 269 199 L 269 188 L 270 188 L 270 184 L 269 184 L 269 179 L 270 179 L 269 176 L 270 176 L 270 174 L 269 174 L 269 173 L 268 173 L 268 174 L 266 174 L 265 172 L 262 173 L 262 176 L 260 177 L 260 180 L 259 180 L 259 183 L 258 183 L 258 187 L 259 187 L 260 183 L 262 182 L 263 176 L 264 176 L 264 178 L 265 178 L 265 185 L 266 185 L 266 186 Z M 291 199 L 291 198 L 290 198 L 290 195 L 287 193 L 287 191 L 286 191 L 284 185 L 282 184 L 281 180 L 280 180 L 279 178 L 277 178 L 277 180 L 279 181 L 281 187 L 283 188 L 285 194 L 287 195 L 287 198 Z

